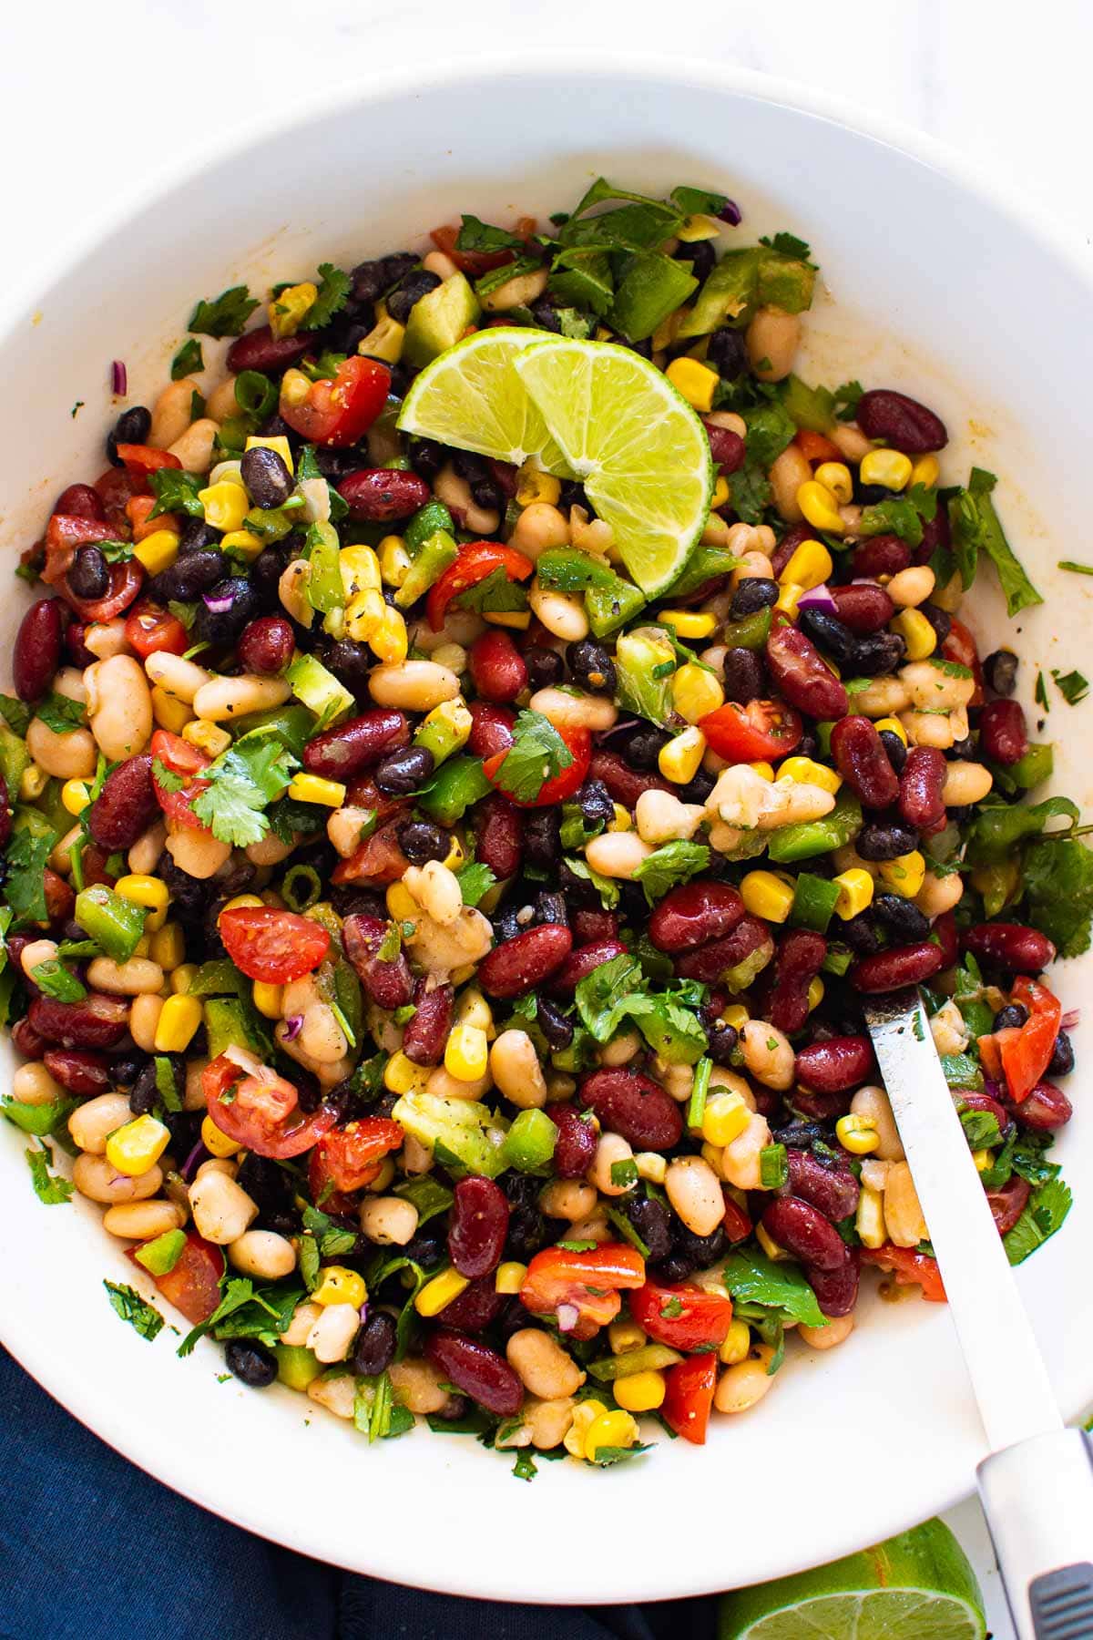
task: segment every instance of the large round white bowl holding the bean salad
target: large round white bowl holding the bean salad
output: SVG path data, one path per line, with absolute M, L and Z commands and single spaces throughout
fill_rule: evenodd
M 498 62 L 374 84 L 221 146 L 64 267 L 33 308 L 5 317 L 8 563 L 41 533 L 57 490 L 103 466 L 110 358 L 128 364 L 129 402 L 146 400 L 197 297 L 236 279 L 264 289 L 303 277 L 320 259 L 351 266 L 420 243 L 460 210 L 544 218 L 603 172 L 654 194 L 710 184 L 742 203 L 739 238 L 790 228 L 811 241 L 836 298 L 808 320 L 816 377 L 919 394 L 952 431 L 947 479 L 968 461 L 1001 474 L 1003 517 L 1047 597 L 1019 622 L 1024 681 L 1036 664 L 1088 669 L 1093 582 L 1055 569 L 1083 556 L 1075 526 L 1090 513 L 1088 264 L 1000 187 L 923 144 L 906 144 L 916 156 L 828 105 L 770 97 L 770 82 L 700 66 Z M 206 359 L 215 351 L 206 344 Z M 16 604 L 0 615 L 8 645 Z M 975 608 L 988 646 L 1009 636 L 996 599 L 977 592 Z M 1083 802 L 1088 712 L 1057 700 L 1049 730 L 1067 736 L 1059 786 Z M 1055 976 L 1067 1007 L 1091 971 L 1085 958 Z M 1077 1204 L 1018 1274 L 1067 1415 L 1093 1392 L 1086 1053 L 1083 1030 L 1078 1120 L 1057 1150 Z M 34 1200 L 23 1148 L 0 1135 L 5 1343 L 151 1474 L 321 1560 L 503 1599 L 667 1597 L 829 1560 L 972 1489 L 978 1417 L 946 1309 L 918 1299 L 865 1299 L 855 1333 L 828 1356 L 791 1348 L 764 1404 L 714 1419 L 705 1450 L 660 1440 L 598 1474 L 544 1463 L 524 1486 L 511 1461 L 465 1437 L 369 1448 L 288 1391 L 218 1383 L 213 1345 L 179 1361 L 170 1330 L 149 1345 L 125 1327 L 102 1281 L 131 1281 L 131 1263 L 90 1204 Z

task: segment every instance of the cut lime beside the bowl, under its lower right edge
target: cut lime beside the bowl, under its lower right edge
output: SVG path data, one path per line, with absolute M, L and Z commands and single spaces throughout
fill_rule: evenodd
M 983 1640 L 983 1596 L 941 1520 L 721 1601 L 719 1640 Z

